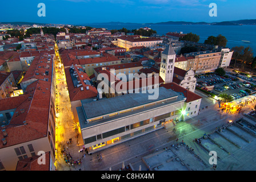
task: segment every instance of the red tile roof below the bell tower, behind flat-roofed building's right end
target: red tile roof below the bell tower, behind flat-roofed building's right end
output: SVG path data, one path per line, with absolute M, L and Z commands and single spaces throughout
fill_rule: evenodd
M 198 96 L 198 94 L 195 94 L 194 92 L 191 92 L 190 90 L 187 90 L 183 88 L 182 86 L 179 86 L 178 84 L 175 84 L 174 82 L 168 83 L 168 84 L 162 84 L 166 89 L 172 89 L 175 92 L 181 92 L 183 95 L 187 98 L 186 102 L 192 102 L 201 99 L 201 96 Z

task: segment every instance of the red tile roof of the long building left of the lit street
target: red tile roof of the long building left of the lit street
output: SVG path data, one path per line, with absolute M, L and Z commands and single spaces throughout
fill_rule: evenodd
M 40 59 L 35 62 L 34 61 L 33 64 L 37 64 Z M 2 107 L 2 110 L 10 108 L 15 109 L 15 113 L 11 118 L 9 125 L 6 126 L 6 132 L 8 135 L 5 139 L 7 143 L 3 145 L 1 142 L 0 148 L 47 137 L 51 96 L 52 61 L 53 60 L 51 59 L 49 63 L 48 81 L 34 81 L 27 86 L 23 96 L 0 100 L 0 103 L 3 102 L 3 106 L 6 105 L 6 107 Z M 30 71 L 30 69 L 33 68 L 29 68 L 28 72 L 33 73 L 34 71 Z M 7 102 L 10 102 L 10 104 L 12 103 L 13 105 L 10 105 Z M 0 106 L 2 106 L 2 104 L 0 104 Z M 27 125 L 23 125 L 24 121 L 26 121 Z

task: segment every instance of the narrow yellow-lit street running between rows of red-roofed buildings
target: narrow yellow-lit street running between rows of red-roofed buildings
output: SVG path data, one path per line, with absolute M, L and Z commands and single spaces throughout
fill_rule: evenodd
M 56 98 L 56 127 L 55 127 L 55 147 L 56 160 L 55 166 L 58 171 L 78 170 L 82 168 L 81 164 L 71 165 L 71 162 L 65 161 L 65 156 L 71 156 L 75 161 L 82 158 L 79 150 L 82 148 L 81 130 L 74 122 L 74 115 L 71 111 L 69 90 L 67 88 L 65 71 L 61 62 L 58 47 L 55 45 L 55 71 L 57 84 Z M 71 140 L 70 140 L 71 139 Z

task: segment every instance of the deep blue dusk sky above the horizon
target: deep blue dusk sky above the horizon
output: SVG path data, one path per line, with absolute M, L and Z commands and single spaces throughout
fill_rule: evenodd
M 37 15 L 38 3 L 45 3 L 45 17 Z M 217 17 L 209 16 L 210 3 L 217 4 Z M 14 0 L 1 2 L 1 7 L 0 22 L 85 24 L 256 19 L 255 0 Z

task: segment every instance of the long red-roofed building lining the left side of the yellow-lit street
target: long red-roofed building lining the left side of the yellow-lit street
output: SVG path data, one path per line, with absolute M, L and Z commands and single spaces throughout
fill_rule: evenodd
M 50 151 L 55 170 L 55 67 L 53 56 L 35 57 L 21 82 L 23 95 L 0 100 L 0 170 Z

